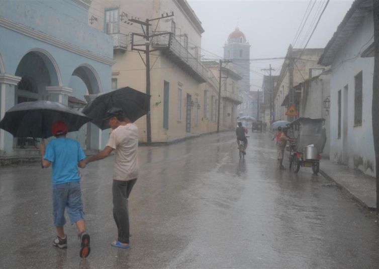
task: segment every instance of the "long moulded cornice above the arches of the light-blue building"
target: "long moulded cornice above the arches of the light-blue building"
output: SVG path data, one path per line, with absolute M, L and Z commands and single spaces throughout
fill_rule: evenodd
M 52 37 L 2 16 L 0 16 L 0 26 L 106 65 L 112 66 L 115 63 L 115 61 L 109 57 L 81 49 L 78 46 L 72 45 L 66 41 Z

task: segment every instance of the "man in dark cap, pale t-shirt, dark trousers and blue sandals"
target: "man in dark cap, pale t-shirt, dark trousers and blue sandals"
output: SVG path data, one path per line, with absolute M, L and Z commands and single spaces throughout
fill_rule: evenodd
M 85 160 L 86 163 L 108 157 L 115 150 L 113 165 L 113 217 L 118 238 L 112 246 L 129 248 L 128 197 L 138 178 L 138 128 L 125 115 L 121 108 L 111 108 L 107 117 L 112 133 L 105 149 Z

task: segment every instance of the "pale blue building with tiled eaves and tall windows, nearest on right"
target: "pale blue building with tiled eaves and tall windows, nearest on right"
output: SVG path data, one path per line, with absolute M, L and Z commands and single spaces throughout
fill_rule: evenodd
M 375 176 L 372 2 L 355 0 L 319 63 L 331 65 L 330 159 Z

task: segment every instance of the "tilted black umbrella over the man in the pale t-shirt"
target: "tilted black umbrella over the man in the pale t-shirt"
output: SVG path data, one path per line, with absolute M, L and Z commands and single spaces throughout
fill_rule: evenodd
M 125 115 L 132 122 L 146 115 L 150 111 L 150 96 L 134 90 L 130 87 L 121 88 L 106 94 L 99 95 L 89 102 L 82 110 L 92 122 L 105 130 L 110 128 L 106 117 L 106 112 L 112 107 L 119 107 L 124 110 Z

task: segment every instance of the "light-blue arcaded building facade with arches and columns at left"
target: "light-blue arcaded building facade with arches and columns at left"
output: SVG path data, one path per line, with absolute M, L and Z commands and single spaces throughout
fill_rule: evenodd
M 21 102 L 70 105 L 69 99 L 89 101 L 111 89 L 113 39 L 88 26 L 90 4 L 0 0 L 0 118 Z M 98 150 L 108 131 L 87 124 L 70 136 L 84 148 Z M 0 130 L 0 155 L 18 155 L 19 146 Z

